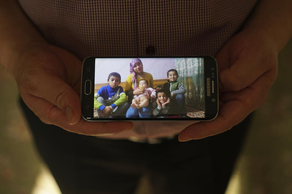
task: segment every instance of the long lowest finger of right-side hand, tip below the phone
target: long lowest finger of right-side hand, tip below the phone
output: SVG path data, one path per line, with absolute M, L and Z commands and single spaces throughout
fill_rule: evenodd
M 231 129 L 247 115 L 262 105 L 271 87 L 276 72 L 269 71 L 260 76 L 249 88 L 239 92 L 228 92 L 225 103 L 213 121 L 200 122 L 188 126 L 179 134 L 179 141 L 202 139 Z M 229 95 L 228 95 L 229 94 Z

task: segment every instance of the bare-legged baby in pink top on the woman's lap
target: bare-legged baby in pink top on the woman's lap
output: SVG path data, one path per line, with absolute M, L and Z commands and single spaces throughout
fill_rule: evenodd
M 134 109 L 140 109 L 142 107 L 147 107 L 149 104 L 149 98 L 156 97 L 156 91 L 153 88 L 148 88 L 148 81 L 146 79 L 141 79 L 139 82 L 140 90 L 144 90 L 143 94 L 134 95 L 131 106 Z

